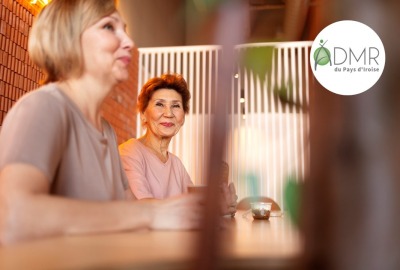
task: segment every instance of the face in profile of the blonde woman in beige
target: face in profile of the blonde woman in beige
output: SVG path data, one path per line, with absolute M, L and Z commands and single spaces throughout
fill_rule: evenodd
M 117 83 L 128 78 L 133 41 L 118 12 L 100 19 L 82 34 L 84 76 Z

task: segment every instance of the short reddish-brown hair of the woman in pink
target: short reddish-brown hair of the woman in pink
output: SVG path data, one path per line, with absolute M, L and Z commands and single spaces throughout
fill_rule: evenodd
M 144 113 L 154 92 L 159 89 L 173 89 L 182 97 L 183 111 L 189 112 L 190 92 L 185 79 L 180 74 L 163 74 L 148 80 L 140 90 L 138 97 L 138 111 Z

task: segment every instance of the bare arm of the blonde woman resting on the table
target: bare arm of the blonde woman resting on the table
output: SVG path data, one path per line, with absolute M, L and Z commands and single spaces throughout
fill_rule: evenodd
M 7 165 L 0 172 L 0 243 L 53 235 L 198 228 L 199 199 L 164 202 L 97 202 L 49 195 L 49 181 L 36 167 Z

